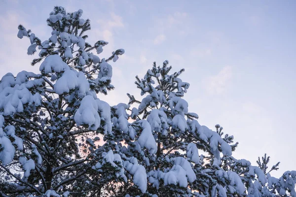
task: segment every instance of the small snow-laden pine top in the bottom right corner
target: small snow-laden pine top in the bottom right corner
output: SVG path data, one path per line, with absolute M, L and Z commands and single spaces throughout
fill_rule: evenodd
M 253 166 L 245 159 L 237 160 L 229 157 L 224 160 L 224 169 L 240 176 L 247 197 L 296 197 L 296 171 L 286 171 L 280 178 L 275 178 L 270 172 L 277 170 L 280 163 L 273 165 L 267 171 L 268 163 L 269 157 L 266 157 L 266 154 L 262 157 L 262 161 L 258 158 L 258 166 Z

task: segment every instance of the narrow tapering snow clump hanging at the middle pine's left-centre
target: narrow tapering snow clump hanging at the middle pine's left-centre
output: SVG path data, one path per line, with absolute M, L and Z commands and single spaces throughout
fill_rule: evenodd
M 138 138 L 138 142 L 142 148 L 147 148 L 150 154 L 156 153 L 157 145 L 151 132 L 151 126 L 147 120 L 138 121 L 142 125 L 143 131 Z

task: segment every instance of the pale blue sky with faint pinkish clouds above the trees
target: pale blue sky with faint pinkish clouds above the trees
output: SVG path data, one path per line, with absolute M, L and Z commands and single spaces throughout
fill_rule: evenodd
M 18 1 L 0 2 L 0 75 L 30 66 L 28 39 L 18 39 L 23 24 L 48 39 L 46 19 L 54 5 L 83 10 L 91 20 L 88 42 L 109 41 L 103 57 L 124 48 L 113 66 L 115 90 L 100 99 L 127 102 L 140 98 L 135 75 L 144 76 L 156 61 L 185 68 L 185 96 L 200 124 L 220 124 L 239 146 L 234 156 L 254 165 L 267 153 L 280 161 L 279 176 L 295 170 L 296 1 Z M 101 56 L 102 57 L 102 56 Z

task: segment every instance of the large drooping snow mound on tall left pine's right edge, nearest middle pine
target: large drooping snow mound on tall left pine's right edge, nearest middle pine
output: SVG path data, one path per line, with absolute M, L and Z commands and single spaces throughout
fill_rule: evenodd
M 101 119 L 98 113 L 98 104 L 96 100 L 90 96 L 85 96 L 74 115 L 75 123 L 80 125 L 88 125 L 89 129 L 97 130 L 100 127 Z

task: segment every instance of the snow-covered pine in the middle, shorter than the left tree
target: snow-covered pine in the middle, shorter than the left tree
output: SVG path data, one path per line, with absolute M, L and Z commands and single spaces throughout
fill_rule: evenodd
M 221 166 L 237 146 L 233 136 L 223 135 L 219 125 L 212 131 L 198 123 L 198 115 L 189 113 L 188 103 L 182 99 L 189 88 L 179 78 L 184 69 L 170 73 L 171 69 L 168 61 L 163 66 L 154 63 L 144 79 L 136 77 L 135 83 L 146 97 L 139 101 L 128 94 L 128 104 L 111 107 L 114 135 L 108 140 L 128 173 L 127 181 L 110 195 L 216 196 L 222 190 L 244 194 L 236 173 L 223 180 L 219 174 L 219 170 L 227 174 Z M 138 107 L 130 107 L 136 104 Z M 225 179 L 233 182 L 232 191 Z

